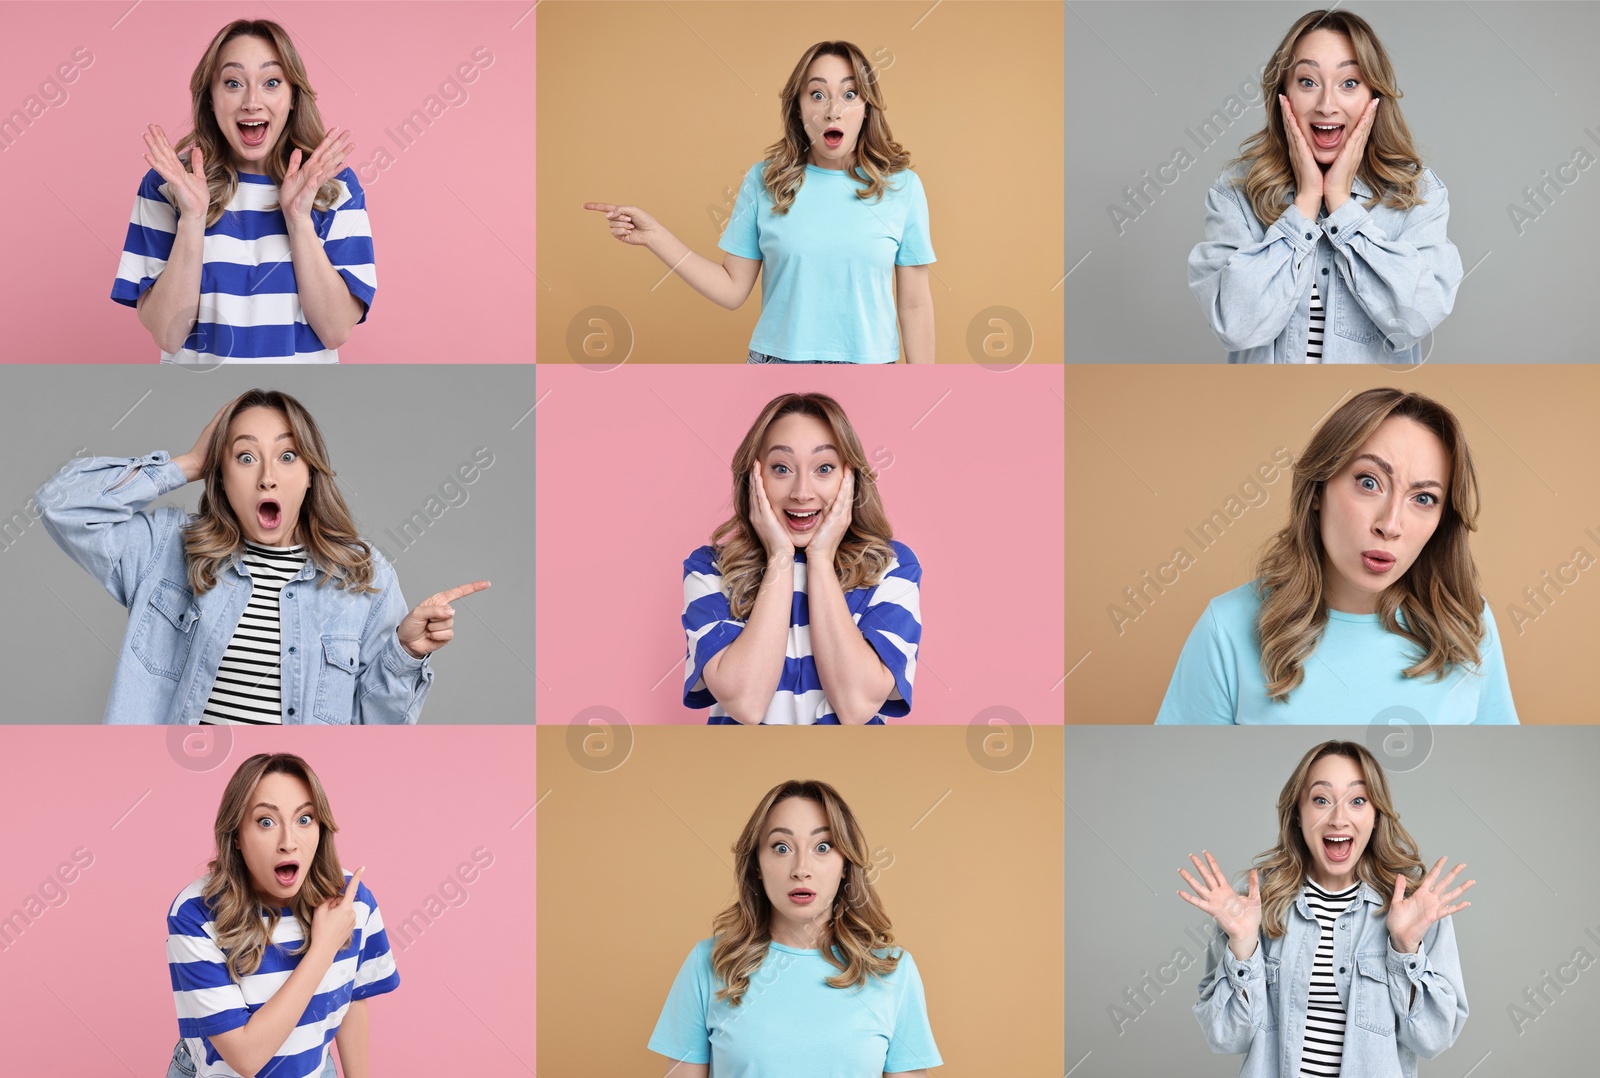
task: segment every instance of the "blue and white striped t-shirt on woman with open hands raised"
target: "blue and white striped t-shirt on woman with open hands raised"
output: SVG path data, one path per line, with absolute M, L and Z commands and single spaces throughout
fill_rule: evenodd
M 334 176 L 339 197 L 330 210 L 312 210 L 312 224 L 333 269 L 366 307 L 378 293 L 366 194 L 349 168 Z M 150 170 L 133 200 L 133 219 L 110 297 L 136 307 L 166 269 L 178 235 L 178 206 L 168 184 Z M 294 283 L 288 226 L 278 186 L 269 176 L 238 174 L 222 218 L 206 227 L 200 267 L 198 321 L 178 353 L 163 363 L 338 363 L 306 323 Z M 362 312 L 362 321 L 366 312 Z

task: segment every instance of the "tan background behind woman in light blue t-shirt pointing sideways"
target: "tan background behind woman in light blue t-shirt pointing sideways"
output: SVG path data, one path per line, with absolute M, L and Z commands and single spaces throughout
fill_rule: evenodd
M 726 219 L 778 139 L 778 94 L 800 54 L 837 38 L 878 67 L 890 128 L 928 192 L 938 358 L 971 361 L 968 325 L 1000 305 L 1032 328 L 1034 361 L 1061 361 L 1062 10 L 930 8 L 539 5 L 539 361 L 574 360 L 568 326 L 594 305 L 632 328 L 635 363 L 744 361 L 760 281 L 723 310 L 662 280 L 656 256 L 613 240 L 582 203 L 642 206 L 720 262 L 712 210 Z

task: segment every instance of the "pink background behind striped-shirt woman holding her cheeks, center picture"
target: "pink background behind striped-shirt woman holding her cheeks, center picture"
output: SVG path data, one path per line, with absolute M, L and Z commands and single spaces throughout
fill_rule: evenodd
M 850 414 L 894 537 L 923 566 L 910 715 L 1061 723 L 1062 368 L 541 366 L 538 718 L 683 707 L 683 558 L 731 515 L 733 453 L 784 392 Z

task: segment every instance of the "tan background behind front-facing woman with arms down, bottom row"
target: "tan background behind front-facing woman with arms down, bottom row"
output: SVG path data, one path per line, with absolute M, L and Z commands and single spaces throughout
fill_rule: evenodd
M 1059 1078 L 1059 726 L 1018 731 L 989 758 L 1021 760 L 1005 773 L 965 728 L 619 728 L 605 757 L 570 747 L 582 729 L 539 728 L 541 1073 L 666 1073 L 645 1044 L 667 988 L 733 899 L 739 828 L 798 777 L 830 782 L 886 851 L 878 894 L 923 977 L 939 1078 Z

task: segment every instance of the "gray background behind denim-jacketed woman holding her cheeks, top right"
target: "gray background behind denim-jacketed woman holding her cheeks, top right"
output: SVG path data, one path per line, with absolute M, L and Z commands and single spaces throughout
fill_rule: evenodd
M 1272 50 L 1315 6 L 1328 5 L 1067 5 L 1069 363 L 1224 361 L 1186 266 L 1203 238 L 1206 190 L 1266 114 L 1251 106 L 1206 150 L 1186 130 L 1198 130 L 1240 82 L 1259 99 Z M 1600 3 L 1341 6 L 1378 32 L 1418 152 L 1450 189 L 1450 238 L 1469 275 L 1424 355 L 1592 361 L 1584 312 L 1600 285 L 1600 144 L 1584 131 L 1600 131 Z M 1179 146 L 1195 163 L 1118 235 L 1106 206 L 1122 205 L 1123 189 L 1141 171 L 1154 176 Z M 1522 205 L 1523 187 L 1542 182 L 1542 171 L 1554 176 L 1579 146 L 1597 165 L 1518 235 L 1507 205 Z

